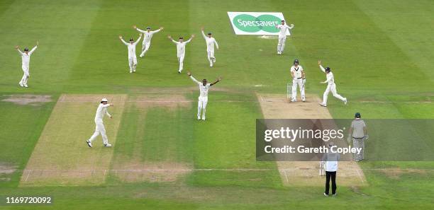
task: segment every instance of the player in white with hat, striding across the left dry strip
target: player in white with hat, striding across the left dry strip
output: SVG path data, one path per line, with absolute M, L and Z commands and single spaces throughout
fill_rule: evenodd
M 103 98 L 101 100 L 101 103 L 98 106 L 98 109 L 96 109 L 95 132 L 90 137 L 90 139 L 86 141 L 89 147 L 92 147 L 92 141 L 94 141 L 96 139 L 96 136 L 99 136 L 99 134 L 101 134 L 102 136 L 104 146 L 111 147 L 111 144 L 109 144 L 109 139 L 107 139 L 106 128 L 104 128 L 104 124 L 103 124 L 104 115 L 107 115 L 110 118 L 112 118 L 109 112 L 107 112 L 107 107 L 111 107 L 111 106 L 113 106 L 113 104 L 109 103 L 109 100 L 107 100 L 106 98 Z

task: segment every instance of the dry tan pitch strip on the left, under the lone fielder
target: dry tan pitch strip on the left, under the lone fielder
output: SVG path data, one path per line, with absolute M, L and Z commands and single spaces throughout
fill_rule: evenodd
M 21 176 L 20 186 L 99 185 L 104 183 L 113 148 L 102 146 L 101 136 L 88 148 L 95 129 L 94 116 L 101 98 L 108 98 L 113 119 L 106 117 L 107 136 L 116 146 L 116 134 L 126 95 L 61 95 Z

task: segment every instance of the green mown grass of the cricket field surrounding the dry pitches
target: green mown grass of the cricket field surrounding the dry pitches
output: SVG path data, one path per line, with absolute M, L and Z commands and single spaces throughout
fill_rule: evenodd
M 276 55 L 277 40 L 234 35 L 227 11 L 283 12 L 295 24 L 284 55 Z M 286 93 L 294 58 L 306 70 L 308 93 L 321 96 L 325 88 L 319 84 L 325 76 L 318 59 L 333 69 L 338 92 L 350 101 L 343 106 L 330 95 L 328 109 L 334 118 L 350 118 L 358 111 L 370 119 L 434 119 L 433 11 L 429 0 L 2 0 L 0 164 L 16 172 L 0 174 L 0 196 L 52 195 L 55 204 L 0 209 L 434 209 L 433 162 L 361 163 L 369 185 L 340 187 L 338 197 L 325 199 L 323 187 L 283 187 L 277 166 L 256 163 L 254 153 L 255 119 L 262 117 L 255 93 Z M 138 59 L 136 74 L 128 74 L 127 49 L 118 40 L 118 35 L 138 36 L 132 25 L 165 27 L 152 38 L 146 57 Z M 221 47 L 213 69 L 206 60 L 202 25 Z M 211 90 L 205 123 L 194 119 L 197 90 L 179 93 L 192 100 L 190 107 L 152 107 L 144 113 L 126 105 L 119 116 L 111 167 L 126 156 L 139 161 L 181 160 L 193 169 L 257 171 L 193 170 L 176 182 L 130 183 L 109 175 L 96 186 L 18 187 L 60 95 L 131 98 L 152 88 L 194 87 L 185 72 L 177 74 L 176 47 L 167 40 L 167 35 L 190 34 L 196 38 L 187 45 L 185 71 L 208 80 L 223 76 L 216 88 L 226 91 Z M 13 47 L 33 47 L 36 40 L 40 47 L 30 62 L 30 88 L 19 88 L 21 58 Z M 51 95 L 52 101 L 1 101 L 12 94 Z M 162 129 L 167 129 L 161 133 L 164 140 L 158 134 Z M 140 156 L 131 157 L 130 151 Z M 391 174 L 384 168 L 413 170 Z

